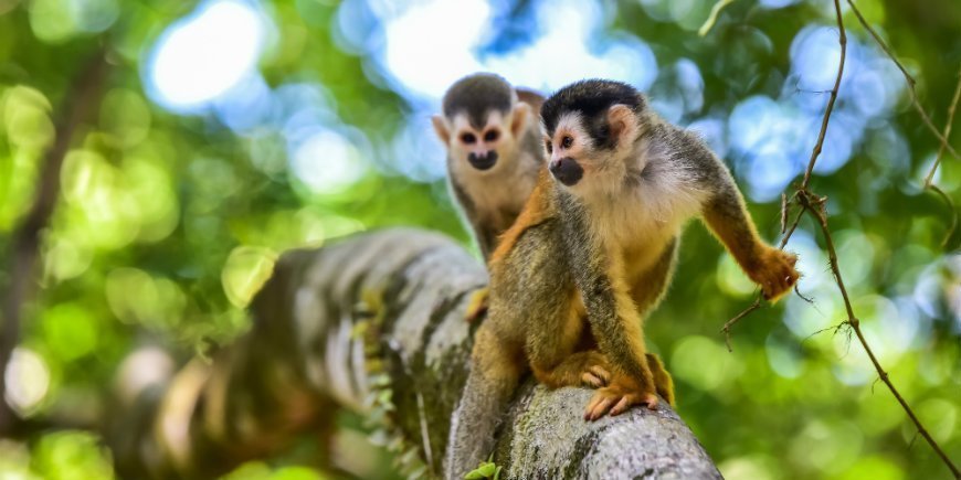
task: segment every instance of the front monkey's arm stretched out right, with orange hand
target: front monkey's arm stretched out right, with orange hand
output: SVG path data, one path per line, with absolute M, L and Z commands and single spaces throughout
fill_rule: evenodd
M 764 298 L 775 300 L 790 291 L 798 280 L 798 258 L 765 244 L 760 236 L 744 199 L 727 167 L 700 140 L 685 142 L 686 157 L 705 173 L 709 194 L 703 205 L 704 221 L 725 244 L 748 277 L 761 286 Z

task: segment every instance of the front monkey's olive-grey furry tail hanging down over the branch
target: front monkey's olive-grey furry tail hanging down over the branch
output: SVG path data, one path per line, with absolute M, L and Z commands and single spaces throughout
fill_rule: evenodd
M 477 330 L 471 374 L 451 418 L 444 478 L 463 479 L 494 450 L 494 434 L 524 372 L 520 349 L 499 342 L 488 323 Z

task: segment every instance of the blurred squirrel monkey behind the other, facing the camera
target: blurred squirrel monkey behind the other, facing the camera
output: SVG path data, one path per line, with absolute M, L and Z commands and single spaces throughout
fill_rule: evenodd
M 477 73 L 457 81 L 432 120 L 447 149 L 448 184 L 488 260 L 514 224 L 545 163 L 538 113 L 543 97 Z

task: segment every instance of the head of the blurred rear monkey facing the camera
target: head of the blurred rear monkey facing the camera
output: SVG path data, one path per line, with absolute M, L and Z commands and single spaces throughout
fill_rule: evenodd
M 447 89 L 443 108 L 433 122 L 450 161 L 493 172 L 516 160 L 530 106 L 518 102 L 507 81 L 488 73 L 466 76 Z

